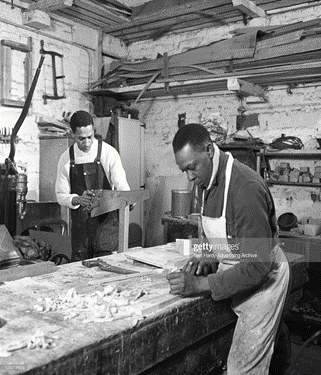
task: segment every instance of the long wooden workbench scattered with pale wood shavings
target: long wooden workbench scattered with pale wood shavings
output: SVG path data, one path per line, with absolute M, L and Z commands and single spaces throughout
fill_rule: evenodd
M 130 250 L 129 250 L 130 251 Z M 125 254 L 103 257 L 124 268 L 146 272 L 151 267 L 128 260 Z M 53 339 L 49 349 L 25 347 L 0 357 L 0 374 L 206 374 L 226 359 L 236 317 L 227 301 L 209 295 L 182 298 L 146 316 L 114 321 L 66 320 L 63 310 L 38 312 L 38 298 L 102 291 L 106 285 L 143 288 L 149 299 L 167 293 L 163 274 L 112 281 L 119 275 L 88 269 L 80 262 L 57 266 L 53 273 L 0 285 L 0 353 L 13 342 L 30 339 L 38 330 Z M 107 282 L 107 284 L 102 284 Z M 116 316 L 116 315 L 115 315 Z M 88 318 L 88 317 L 87 317 Z

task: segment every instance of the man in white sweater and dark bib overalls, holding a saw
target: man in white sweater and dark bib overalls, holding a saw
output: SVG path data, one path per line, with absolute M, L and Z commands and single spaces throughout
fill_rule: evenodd
M 90 217 L 92 190 L 130 190 L 117 150 L 94 137 L 86 111 L 75 112 L 70 127 L 76 143 L 59 159 L 58 203 L 71 209 L 72 261 L 111 254 L 118 247 L 118 211 Z

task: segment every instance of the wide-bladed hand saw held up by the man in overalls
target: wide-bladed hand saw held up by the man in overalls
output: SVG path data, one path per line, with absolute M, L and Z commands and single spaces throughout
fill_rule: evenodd
M 102 215 L 106 212 L 125 208 L 126 205 L 142 202 L 150 198 L 146 190 L 94 190 L 95 198 L 91 206 L 91 217 Z

